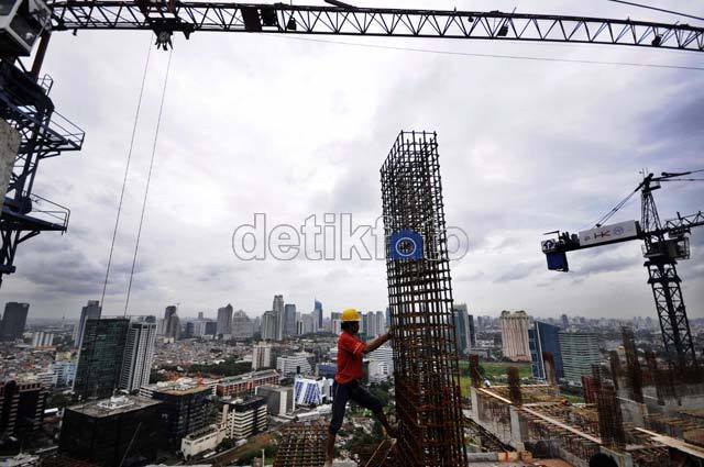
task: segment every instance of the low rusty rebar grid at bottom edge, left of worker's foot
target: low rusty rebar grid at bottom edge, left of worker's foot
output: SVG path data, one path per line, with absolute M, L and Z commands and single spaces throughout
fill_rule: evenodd
M 292 423 L 282 433 L 274 467 L 322 467 L 327 437 L 323 423 Z

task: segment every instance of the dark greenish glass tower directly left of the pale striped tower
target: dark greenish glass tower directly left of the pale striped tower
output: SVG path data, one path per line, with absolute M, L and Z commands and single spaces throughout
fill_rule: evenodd
M 81 399 L 110 397 L 120 381 L 130 320 L 88 319 L 78 354 L 74 392 Z

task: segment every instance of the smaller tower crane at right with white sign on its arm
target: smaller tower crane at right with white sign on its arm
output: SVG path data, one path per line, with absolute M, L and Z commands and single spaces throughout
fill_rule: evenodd
M 623 201 L 602 218 L 594 229 L 570 234 L 569 232 L 549 232 L 557 237 L 541 243 L 546 254 L 548 269 L 569 271 L 566 253 L 593 248 L 615 243 L 640 240 L 644 242 L 644 266 L 648 269 L 648 283 L 652 288 L 656 310 L 660 320 L 660 331 L 666 352 L 671 362 L 684 377 L 697 378 L 698 364 L 692 341 L 690 322 L 686 316 L 682 289 L 682 279 L 678 275 L 678 260 L 690 258 L 689 235 L 693 227 L 704 225 L 704 213 L 698 211 L 690 215 L 680 215 L 664 222 L 660 220 L 652 192 L 667 181 L 688 181 L 685 176 L 704 171 L 662 173 L 660 176 L 647 174 L 642 181 Z M 604 224 L 626 202 L 640 192 L 640 222 L 625 221 Z

